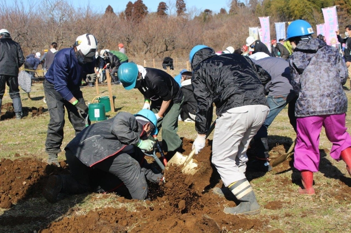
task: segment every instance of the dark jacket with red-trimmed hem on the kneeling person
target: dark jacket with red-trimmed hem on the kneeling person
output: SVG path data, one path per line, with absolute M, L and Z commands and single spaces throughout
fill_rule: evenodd
M 143 127 L 128 112 L 84 128 L 65 147 L 85 165 L 94 164 L 120 152 L 126 145 L 139 142 Z

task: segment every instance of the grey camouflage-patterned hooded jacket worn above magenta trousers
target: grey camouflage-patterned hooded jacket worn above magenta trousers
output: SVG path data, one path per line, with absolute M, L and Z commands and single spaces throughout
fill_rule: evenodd
M 291 84 L 298 95 L 297 117 L 344 113 L 342 88 L 347 68 L 335 47 L 320 39 L 301 40 L 289 60 Z

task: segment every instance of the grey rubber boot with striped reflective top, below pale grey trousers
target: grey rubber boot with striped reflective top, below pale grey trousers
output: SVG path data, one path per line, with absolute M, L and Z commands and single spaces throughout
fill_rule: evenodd
M 257 214 L 260 205 L 249 181 L 241 179 L 228 186 L 240 203 L 235 207 L 225 207 L 224 212 L 230 214 Z

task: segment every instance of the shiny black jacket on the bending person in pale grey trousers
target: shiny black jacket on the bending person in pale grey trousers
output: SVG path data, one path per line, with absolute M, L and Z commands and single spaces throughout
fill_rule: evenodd
M 204 48 L 194 54 L 192 69 L 194 95 L 198 102 L 195 127 L 200 134 L 210 127 L 213 102 L 217 115 L 233 107 L 268 106 L 264 85 L 271 76 L 246 56 L 219 56 L 213 49 Z

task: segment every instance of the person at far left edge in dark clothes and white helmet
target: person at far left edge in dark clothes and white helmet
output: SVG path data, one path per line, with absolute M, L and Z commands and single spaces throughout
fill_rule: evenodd
M 14 104 L 16 119 L 22 118 L 22 101 L 18 85 L 19 68 L 25 62 L 21 45 L 12 40 L 7 29 L 0 30 L 0 108 L 6 83 Z

